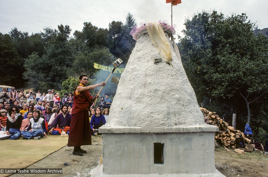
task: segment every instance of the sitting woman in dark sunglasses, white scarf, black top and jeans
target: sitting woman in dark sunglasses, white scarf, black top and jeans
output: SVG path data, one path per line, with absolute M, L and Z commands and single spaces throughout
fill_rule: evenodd
M 8 119 L 6 121 L 6 134 L 11 134 L 8 139 L 17 140 L 20 138 L 20 127 L 23 120 L 18 107 L 11 106 L 8 111 Z

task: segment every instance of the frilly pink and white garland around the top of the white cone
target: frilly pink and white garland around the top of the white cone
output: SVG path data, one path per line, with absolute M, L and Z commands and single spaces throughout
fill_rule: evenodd
M 176 31 L 174 29 L 174 26 L 168 25 L 166 22 L 158 21 L 159 24 L 161 24 L 164 32 L 167 32 L 171 35 L 176 34 Z M 176 28 L 176 27 L 175 27 Z M 146 29 L 146 23 L 144 23 L 140 28 L 137 27 L 137 25 L 133 26 L 131 32 L 129 33 L 131 36 L 133 36 L 133 39 L 138 40 L 140 36 L 144 33 L 148 33 Z

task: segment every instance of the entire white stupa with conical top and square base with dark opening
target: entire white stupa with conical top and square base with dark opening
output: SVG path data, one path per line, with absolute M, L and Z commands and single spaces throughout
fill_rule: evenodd
M 214 133 L 171 46 L 172 66 L 142 34 L 121 75 L 102 133 L 103 164 L 92 176 L 223 176 Z

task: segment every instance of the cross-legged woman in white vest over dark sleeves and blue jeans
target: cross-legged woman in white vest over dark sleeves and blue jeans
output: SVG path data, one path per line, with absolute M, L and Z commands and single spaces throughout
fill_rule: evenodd
M 32 132 L 29 130 L 32 129 Z M 40 138 L 47 136 L 47 130 L 45 125 L 45 120 L 40 117 L 40 111 L 33 111 L 33 118 L 30 119 L 30 126 L 21 132 L 23 139 L 35 139 L 40 140 Z

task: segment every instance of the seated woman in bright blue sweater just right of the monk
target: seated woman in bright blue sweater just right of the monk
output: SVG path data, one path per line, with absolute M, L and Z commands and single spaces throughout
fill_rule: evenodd
M 105 117 L 102 115 L 101 108 L 97 107 L 90 120 L 91 135 L 98 136 L 98 129 L 104 124 L 106 124 Z

